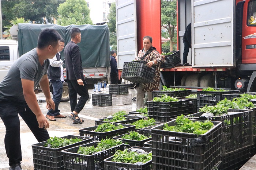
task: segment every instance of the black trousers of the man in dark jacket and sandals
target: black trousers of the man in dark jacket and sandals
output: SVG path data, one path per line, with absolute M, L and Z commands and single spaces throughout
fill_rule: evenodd
M 80 113 L 89 99 L 89 93 L 86 86 L 86 82 L 83 81 L 84 86 L 79 85 L 77 80 L 67 80 L 69 89 L 69 101 L 71 112 L 75 111 Z M 79 94 L 80 99 L 77 103 L 77 94 Z

